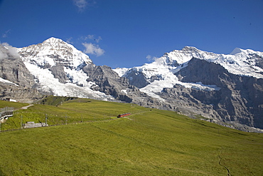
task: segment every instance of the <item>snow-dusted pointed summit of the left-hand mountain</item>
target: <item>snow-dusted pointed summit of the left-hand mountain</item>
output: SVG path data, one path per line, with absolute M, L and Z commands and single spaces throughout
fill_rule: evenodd
M 18 48 L 23 61 L 49 68 L 57 64 L 77 69 L 82 64 L 92 63 L 89 56 L 59 38 L 48 38 L 43 43 Z

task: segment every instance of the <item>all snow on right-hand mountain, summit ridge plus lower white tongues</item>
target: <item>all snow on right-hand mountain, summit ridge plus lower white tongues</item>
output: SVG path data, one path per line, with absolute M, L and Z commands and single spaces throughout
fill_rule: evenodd
M 119 76 L 124 76 L 130 82 L 135 79 L 136 75 L 142 73 L 148 82 L 141 86 L 140 90 L 149 95 L 158 98 L 155 93 L 161 92 L 163 88 L 173 88 L 175 84 L 181 84 L 186 88 L 196 88 L 200 90 L 220 90 L 215 85 L 203 85 L 203 83 L 182 83 L 178 81 L 174 73 L 188 66 L 191 58 L 199 58 L 208 62 L 219 63 L 230 73 L 241 76 L 253 76 L 263 78 L 263 53 L 258 51 L 242 50 L 235 48 L 232 53 L 217 54 L 206 51 L 200 51 L 195 47 L 186 46 L 182 50 L 174 50 L 165 53 L 161 58 L 156 58 L 152 63 L 146 63 L 144 66 L 134 68 L 117 68 L 114 69 Z M 132 74 L 134 73 L 134 74 Z

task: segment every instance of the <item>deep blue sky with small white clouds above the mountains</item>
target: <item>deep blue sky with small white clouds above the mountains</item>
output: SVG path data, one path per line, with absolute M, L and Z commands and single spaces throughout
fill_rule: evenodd
M 263 0 L 0 0 L 0 42 L 53 36 L 96 65 L 130 68 L 184 46 L 263 51 L 262 9 Z

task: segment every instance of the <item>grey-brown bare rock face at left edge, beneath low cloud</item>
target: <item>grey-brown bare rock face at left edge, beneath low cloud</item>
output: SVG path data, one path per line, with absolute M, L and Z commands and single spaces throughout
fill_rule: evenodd
M 0 82 L 0 99 L 12 98 L 31 103 L 33 100 L 41 98 L 42 95 L 34 88 L 34 76 L 28 71 L 18 55 L 10 53 L 11 49 L 11 46 L 7 48 L 0 45 L 0 77 L 11 81 L 11 83 Z

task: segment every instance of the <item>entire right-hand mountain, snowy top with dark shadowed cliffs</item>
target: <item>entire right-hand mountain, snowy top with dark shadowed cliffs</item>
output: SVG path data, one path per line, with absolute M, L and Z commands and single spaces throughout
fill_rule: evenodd
M 185 47 L 153 63 L 115 71 L 171 110 L 245 130 L 246 125 L 263 127 L 262 61 L 262 52 L 249 49 L 225 55 Z

